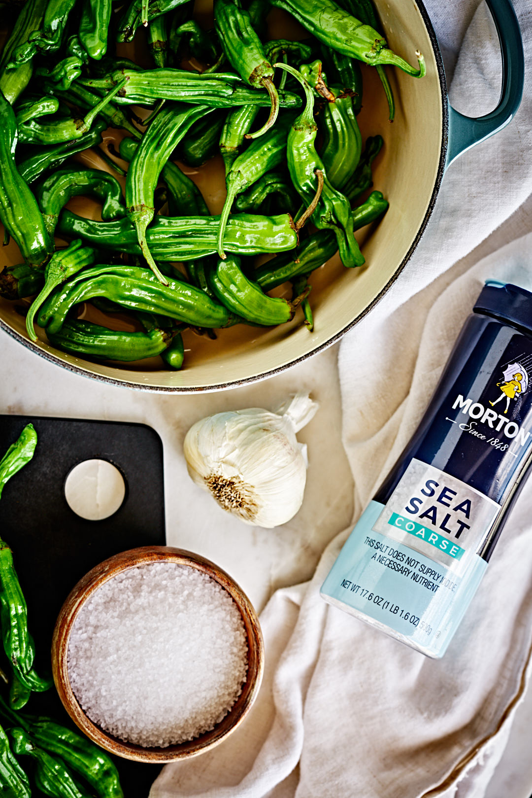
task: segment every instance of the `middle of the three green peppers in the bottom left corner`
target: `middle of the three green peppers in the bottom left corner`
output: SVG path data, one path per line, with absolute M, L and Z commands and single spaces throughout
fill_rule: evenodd
M 33 778 L 37 788 L 51 798 L 90 798 L 77 786 L 65 764 L 52 754 L 37 748 L 24 729 L 10 729 L 14 753 L 29 756 L 35 761 Z

